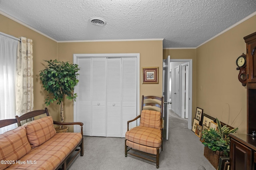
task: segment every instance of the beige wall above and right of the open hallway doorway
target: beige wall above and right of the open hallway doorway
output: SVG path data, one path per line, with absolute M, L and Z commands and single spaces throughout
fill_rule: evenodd
M 164 49 L 163 59 L 192 59 L 192 119 L 196 116 L 196 49 Z M 192 120 L 193 121 L 193 120 Z

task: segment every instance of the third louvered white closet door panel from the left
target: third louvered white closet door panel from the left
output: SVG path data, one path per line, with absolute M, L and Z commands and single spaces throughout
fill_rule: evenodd
M 121 58 L 107 59 L 107 137 L 121 137 Z

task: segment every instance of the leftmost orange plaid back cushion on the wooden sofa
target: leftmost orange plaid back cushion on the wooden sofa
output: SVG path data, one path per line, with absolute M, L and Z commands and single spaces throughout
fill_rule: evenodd
M 10 160 L 16 162 L 30 150 L 30 143 L 26 136 L 25 127 L 17 127 L 11 131 L 0 134 L 0 160 Z M 10 162 L 13 164 L 14 162 Z M 0 164 L 0 170 L 10 166 L 10 164 Z

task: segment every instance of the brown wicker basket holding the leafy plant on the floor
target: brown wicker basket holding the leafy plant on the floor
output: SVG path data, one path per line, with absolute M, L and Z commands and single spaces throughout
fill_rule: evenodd
M 223 151 L 213 151 L 208 147 L 204 147 L 204 156 L 209 162 L 214 166 L 215 169 L 218 169 L 220 156 L 224 156 Z

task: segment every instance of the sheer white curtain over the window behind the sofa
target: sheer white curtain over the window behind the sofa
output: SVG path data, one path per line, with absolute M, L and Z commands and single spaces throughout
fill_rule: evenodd
M 14 119 L 16 115 L 15 75 L 19 41 L 0 35 L 0 119 Z M 0 129 L 4 133 L 14 129 L 10 125 Z

